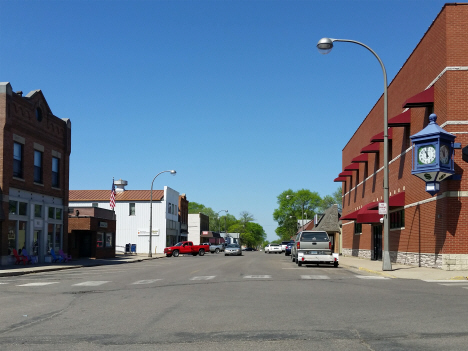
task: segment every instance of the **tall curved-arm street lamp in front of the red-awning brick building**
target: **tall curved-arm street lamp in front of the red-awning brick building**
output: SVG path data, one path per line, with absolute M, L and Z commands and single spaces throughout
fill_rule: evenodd
M 360 43 L 355 40 L 349 39 L 333 39 L 333 38 L 322 38 L 317 43 L 317 49 L 321 54 L 328 54 L 333 49 L 333 42 L 341 41 L 347 43 L 354 43 L 365 47 L 367 50 L 372 52 L 382 67 L 384 77 L 384 203 L 386 207 L 386 214 L 384 214 L 384 252 L 382 256 L 382 270 L 391 271 L 392 262 L 390 261 L 390 238 L 389 238 L 389 221 L 388 221 L 388 100 L 387 100 L 387 71 L 380 57 L 367 45 Z

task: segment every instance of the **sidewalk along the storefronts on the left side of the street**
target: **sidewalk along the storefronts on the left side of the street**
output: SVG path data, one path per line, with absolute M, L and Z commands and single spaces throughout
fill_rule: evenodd
M 82 267 L 93 267 L 93 266 L 103 266 L 103 265 L 115 265 L 122 263 L 133 263 L 141 262 L 144 260 L 153 260 L 166 257 L 164 254 L 153 254 L 153 257 L 148 257 L 148 254 L 123 254 L 117 252 L 114 258 L 101 258 L 101 259 L 92 259 L 92 258 L 78 258 L 72 260 L 71 262 L 64 263 L 39 263 L 39 264 L 28 264 L 28 265 L 9 265 L 9 266 L 0 266 L 0 277 L 9 277 L 30 273 L 41 273 L 49 271 L 59 271 L 63 269 L 73 269 L 73 268 L 82 268 Z

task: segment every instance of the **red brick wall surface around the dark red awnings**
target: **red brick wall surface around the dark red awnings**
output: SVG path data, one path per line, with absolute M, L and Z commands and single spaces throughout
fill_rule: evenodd
M 389 119 L 402 113 L 402 104 L 408 98 L 425 90 L 446 67 L 468 66 L 468 5 L 447 5 L 428 29 L 413 53 L 388 88 Z M 446 71 L 434 84 L 434 113 L 437 123 L 466 121 L 468 110 L 468 71 Z M 394 127 L 393 138 L 389 143 L 390 157 L 395 158 L 407 149 L 408 136 L 419 132 L 428 123 L 431 108 L 412 108 L 411 126 Z M 447 125 L 448 132 L 454 133 L 456 142 L 468 144 L 467 125 Z M 383 97 L 376 103 L 369 115 L 356 130 L 342 153 L 343 168 L 360 154 L 360 150 L 370 143 L 370 138 L 383 130 Z M 455 153 L 456 172 L 466 173 L 467 164 L 461 160 L 461 150 Z M 379 154 L 369 154 L 369 162 L 361 163 L 359 172 L 348 178 L 343 188 L 350 191 L 343 201 L 343 215 L 383 197 L 383 171 L 380 171 L 364 184 L 356 185 L 383 167 L 383 143 Z M 413 204 L 431 199 L 425 191 L 425 183 L 411 175 L 411 152 L 402 155 L 389 166 L 390 196 L 405 191 L 405 203 Z M 358 179 L 356 175 L 358 174 Z M 468 173 L 467 173 L 468 174 Z M 441 183 L 441 191 L 467 191 L 468 181 L 447 180 Z M 405 210 L 405 228 L 390 231 L 390 251 L 421 253 L 468 253 L 468 198 L 445 197 Z M 344 221 L 346 223 L 346 221 Z M 343 226 L 343 248 L 371 250 L 372 227 L 363 224 L 362 235 L 354 235 L 354 225 Z

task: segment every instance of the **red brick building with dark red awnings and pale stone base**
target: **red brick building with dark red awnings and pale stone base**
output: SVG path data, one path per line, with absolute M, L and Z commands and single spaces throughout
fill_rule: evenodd
M 468 144 L 468 4 L 446 4 L 388 86 L 389 251 L 392 262 L 468 269 L 468 164 L 455 150 L 456 180 L 431 196 L 411 174 L 410 135 L 437 123 Z M 383 96 L 342 152 L 343 254 L 381 259 Z

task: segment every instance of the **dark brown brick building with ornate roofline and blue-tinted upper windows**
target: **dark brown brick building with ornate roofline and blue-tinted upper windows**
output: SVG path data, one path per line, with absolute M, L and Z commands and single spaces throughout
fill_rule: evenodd
M 67 249 L 71 122 L 53 115 L 40 90 L 26 96 L 0 83 L 0 257 L 14 249 L 39 262 Z

